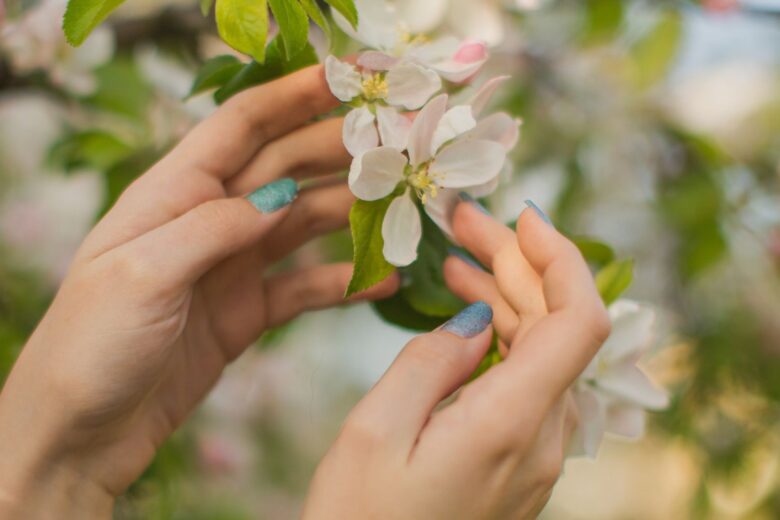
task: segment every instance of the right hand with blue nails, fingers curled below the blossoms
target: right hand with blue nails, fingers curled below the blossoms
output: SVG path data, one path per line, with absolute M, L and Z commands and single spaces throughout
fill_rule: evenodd
M 448 283 L 490 300 L 507 358 L 439 410 L 488 349 L 490 307 L 409 343 L 346 420 L 304 518 L 534 518 L 547 503 L 576 425 L 567 389 L 608 316 L 577 248 L 534 211 L 515 236 L 460 204 L 454 229 L 495 275 L 451 258 Z

